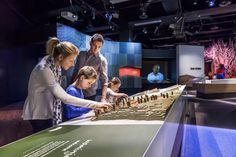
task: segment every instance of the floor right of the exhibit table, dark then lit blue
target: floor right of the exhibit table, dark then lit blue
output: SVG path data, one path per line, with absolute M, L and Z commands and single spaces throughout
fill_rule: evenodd
M 184 126 L 181 157 L 236 156 L 236 98 L 189 94 L 187 99 L 190 121 Z

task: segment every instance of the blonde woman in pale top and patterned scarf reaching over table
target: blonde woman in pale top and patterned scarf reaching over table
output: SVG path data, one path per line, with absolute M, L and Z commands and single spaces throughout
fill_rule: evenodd
M 61 102 L 89 108 L 109 108 L 101 103 L 76 98 L 61 87 L 61 68 L 68 70 L 79 54 L 70 42 L 51 38 L 46 45 L 46 55 L 33 69 L 28 83 L 28 96 L 23 108 L 23 119 L 29 120 L 33 131 L 38 132 L 62 121 Z

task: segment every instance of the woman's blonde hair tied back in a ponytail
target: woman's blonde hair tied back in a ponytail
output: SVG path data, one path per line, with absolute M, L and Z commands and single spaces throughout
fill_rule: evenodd
M 65 58 L 71 54 L 79 54 L 79 50 L 74 44 L 68 41 L 60 42 L 56 37 L 52 37 L 47 41 L 46 52 L 53 58 L 57 58 L 59 55 Z

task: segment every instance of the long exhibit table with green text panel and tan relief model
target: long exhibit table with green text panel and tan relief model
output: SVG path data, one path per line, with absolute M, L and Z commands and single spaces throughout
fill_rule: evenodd
M 133 96 L 139 100 L 138 106 L 125 106 L 95 121 L 86 118 L 64 122 L 0 147 L 0 157 L 176 156 L 182 140 L 178 130 L 183 128 L 180 125 L 185 106 L 183 90 L 184 86 L 176 85 L 157 93 Z M 165 111 L 161 116 L 164 121 L 158 120 L 159 111 Z M 121 119 L 110 120 L 111 114 Z M 134 115 L 138 120 L 132 119 Z

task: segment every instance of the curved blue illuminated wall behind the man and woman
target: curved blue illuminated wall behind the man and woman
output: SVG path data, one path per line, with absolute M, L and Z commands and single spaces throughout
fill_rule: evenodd
M 80 51 L 88 50 L 90 48 L 89 42 L 91 36 L 77 31 L 75 28 L 58 24 L 57 37 L 61 41 L 70 41 L 75 44 Z M 108 76 L 119 76 L 119 68 L 124 66 L 131 66 L 136 68 L 142 67 L 142 48 L 141 43 L 132 42 L 114 42 L 105 40 L 101 49 L 101 53 L 108 61 Z M 68 80 L 72 76 L 73 68 L 65 74 Z M 122 77 L 122 88 L 141 88 L 140 77 Z

